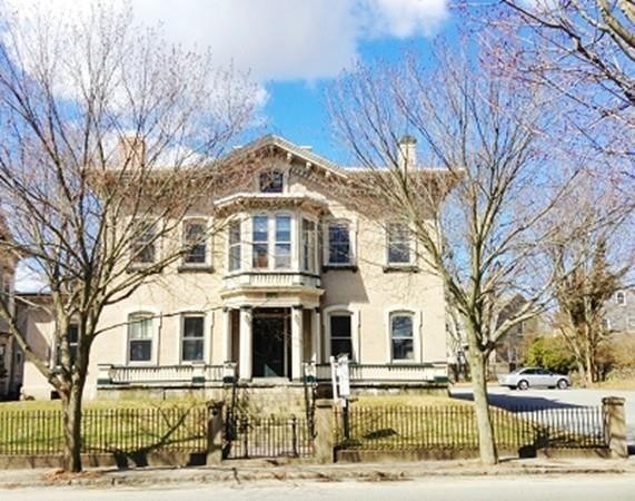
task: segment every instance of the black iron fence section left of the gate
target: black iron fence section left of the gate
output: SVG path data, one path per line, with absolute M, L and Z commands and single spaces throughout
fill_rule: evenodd
M 0 454 L 59 454 L 63 436 L 61 411 L 0 412 Z M 86 410 L 81 441 L 82 452 L 205 452 L 207 410 L 204 406 Z

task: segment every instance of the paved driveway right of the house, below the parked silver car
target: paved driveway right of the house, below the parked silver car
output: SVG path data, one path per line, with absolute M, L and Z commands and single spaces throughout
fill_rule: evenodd
M 462 400 L 473 400 L 470 387 L 453 387 L 450 390 L 453 397 Z M 602 399 L 605 396 L 622 396 L 626 399 L 626 426 L 628 445 L 635 449 L 635 391 L 615 391 L 615 390 L 586 390 L 586 389 L 568 389 L 568 390 L 537 390 L 529 389 L 526 391 L 509 390 L 507 387 L 492 385 L 488 386 L 487 394 L 492 405 L 502 409 L 517 407 L 570 407 L 570 406 L 595 406 L 602 405 Z

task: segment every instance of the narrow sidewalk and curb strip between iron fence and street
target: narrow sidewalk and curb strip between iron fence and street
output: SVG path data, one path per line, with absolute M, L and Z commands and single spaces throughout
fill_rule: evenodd
M 23 478 L 0 480 L 0 489 L 23 489 L 42 487 L 176 487 L 201 485 L 207 483 L 247 482 L 287 482 L 287 481 L 360 481 L 390 482 L 408 481 L 417 478 L 443 477 L 512 477 L 512 475 L 570 475 L 570 474 L 635 474 L 631 465 L 611 465 L 603 468 L 566 466 L 566 465 L 498 465 L 492 468 L 316 468 L 289 469 L 271 466 L 258 468 L 222 468 L 222 469 L 151 469 L 128 471 L 96 471 L 87 470 L 79 475 L 56 475 L 51 472 L 21 472 Z M 17 475 L 21 477 L 21 475 Z

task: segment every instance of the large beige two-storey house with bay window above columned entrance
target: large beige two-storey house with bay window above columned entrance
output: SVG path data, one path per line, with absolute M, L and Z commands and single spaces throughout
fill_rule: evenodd
M 443 283 L 407 225 L 389 210 L 370 216 L 347 189 L 364 170 L 275 136 L 232 155 L 259 151 L 267 161 L 214 200 L 221 229 L 103 312 L 111 328 L 93 344 L 87 397 L 215 389 L 231 377 L 294 386 L 308 373 L 328 380 L 331 355 L 344 353 L 354 387 L 446 384 Z M 183 245 L 211 223 L 205 213 L 187 217 Z M 54 364 L 51 332 L 46 318 L 30 318 L 28 335 L 48 340 Z M 24 395 L 50 390 L 26 367 Z

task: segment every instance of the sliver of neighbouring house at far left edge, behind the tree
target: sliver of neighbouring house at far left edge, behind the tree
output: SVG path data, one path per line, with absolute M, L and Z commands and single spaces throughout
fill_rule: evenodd
M 0 217 L 0 238 L 10 239 L 11 235 Z M 11 242 L 11 240 L 9 240 Z M 0 255 L 0 295 L 10 308 L 14 307 L 13 282 L 17 258 L 7 252 Z M 14 346 L 13 336 L 9 331 L 7 321 L 0 315 L 0 400 L 16 397 L 19 392 L 19 379 L 16 374 L 21 372 L 21 353 Z

